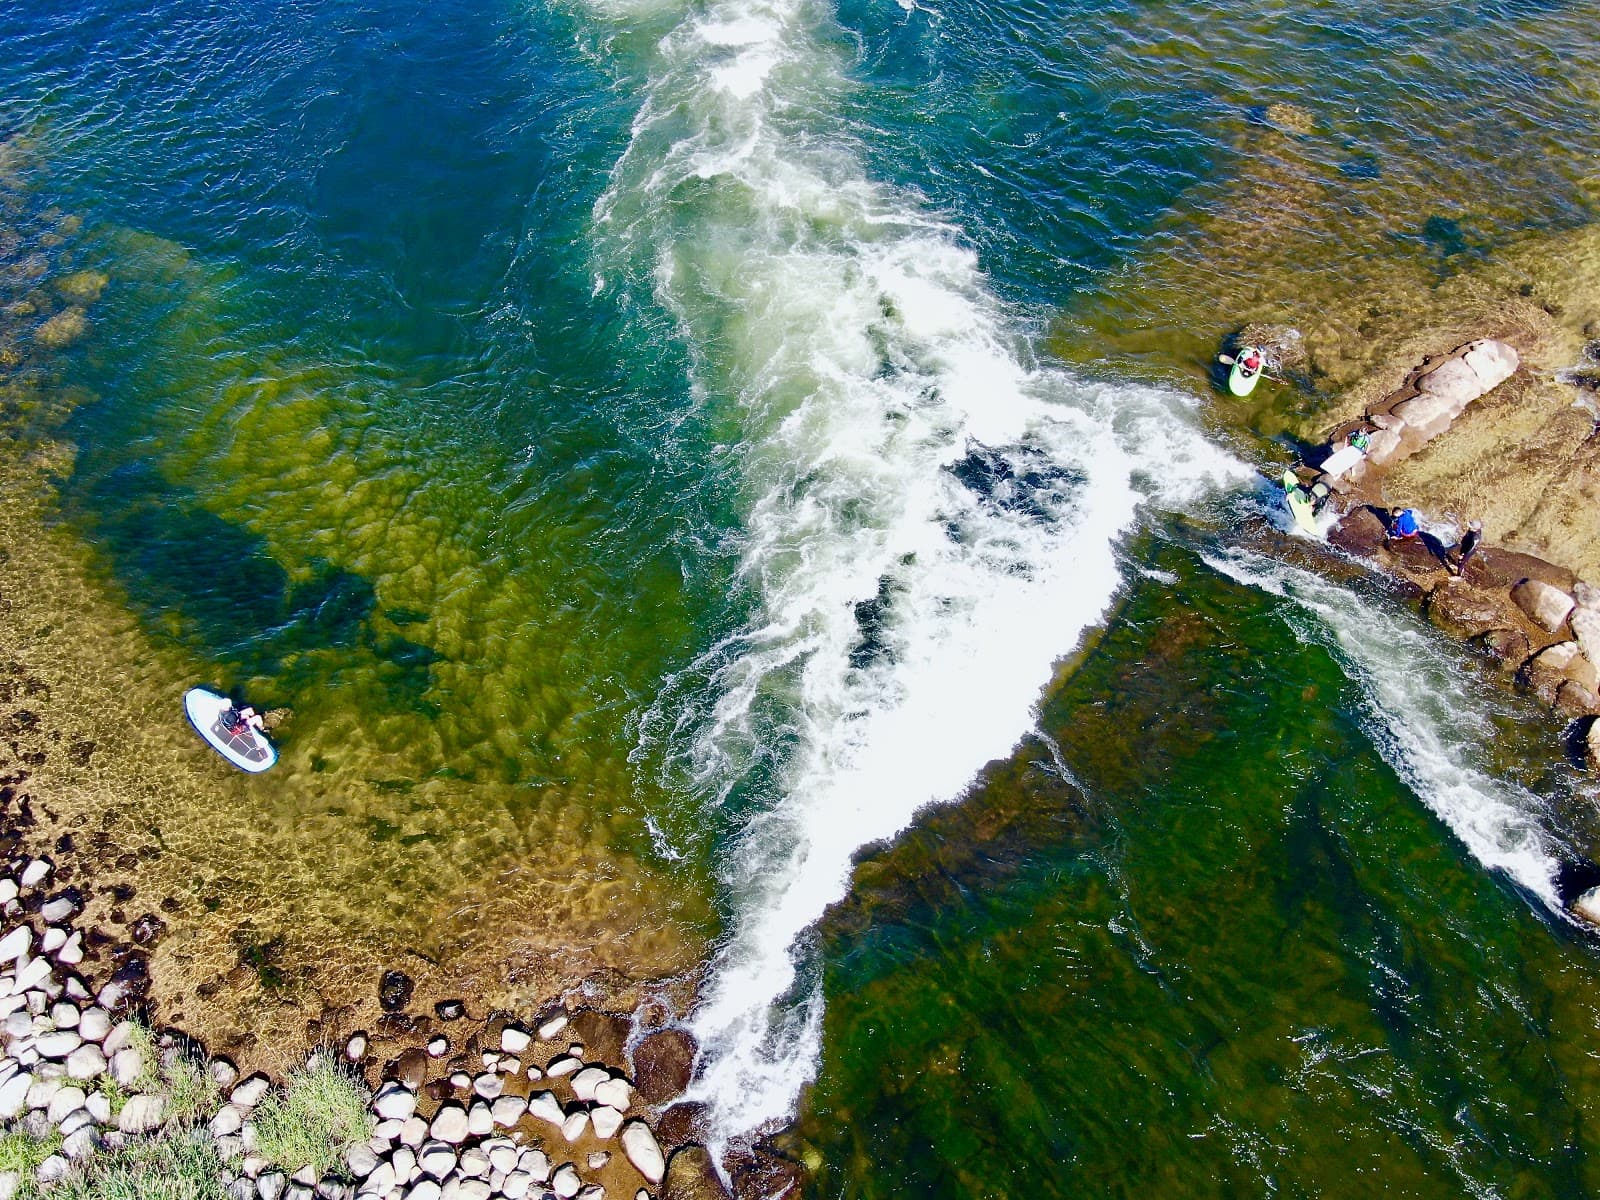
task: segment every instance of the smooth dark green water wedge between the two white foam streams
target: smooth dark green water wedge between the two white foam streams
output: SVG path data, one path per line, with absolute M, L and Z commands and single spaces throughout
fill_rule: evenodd
M 1592 947 L 1408 794 L 1280 600 L 1152 557 L 1045 739 L 829 920 L 819 1194 L 1592 1192 Z

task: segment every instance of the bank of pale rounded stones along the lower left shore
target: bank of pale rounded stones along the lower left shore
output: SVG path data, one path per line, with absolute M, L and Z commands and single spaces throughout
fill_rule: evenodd
M 8 816 L 29 803 L 16 774 L 0 789 Z M 379 1029 L 322 1046 L 286 1080 L 242 1077 L 179 1030 L 144 1024 L 158 922 L 136 923 L 133 942 L 75 925 L 70 866 L 27 854 L 6 862 L 0 907 L 0 1200 L 48 1195 L 107 1155 L 171 1138 L 214 1158 L 214 1186 L 197 1195 L 219 1200 L 728 1197 L 696 1141 L 701 1107 L 682 1099 L 696 1054 L 682 1029 L 562 1000 L 478 1021 L 450 1000 L 424 1021 L 406 1013 L 410 979 L 387 971 Z M 326 1144 L 320 1165 L 274 1154 L 261 1123 L 306 1078 L 363 1106 L 342 1138 L 307 1134 Z M 16 1162 L 26 1178 L 6 1168 Z M 728 1166 L 739 1195 L 798 1187 L 798 1166 L 765 1150 Z

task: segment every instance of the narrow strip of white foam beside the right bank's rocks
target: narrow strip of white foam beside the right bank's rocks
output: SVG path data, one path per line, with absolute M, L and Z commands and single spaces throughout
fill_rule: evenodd
M 1478 862 L 1502 870 L 1552 912 L 1560 862 L 1541 822 L 1541 800 L 1472 766 L 1493 738 L 1478 706 L 1462 702 L 1461 667 L 1429 630 L 1370 605 L 1309 571 L 1248 550 L 1206 555 L 1222 574 L 1293 600 L 1312 621 L 1296 634 L 1326 646 L 1360 685 L 1384 762 Z

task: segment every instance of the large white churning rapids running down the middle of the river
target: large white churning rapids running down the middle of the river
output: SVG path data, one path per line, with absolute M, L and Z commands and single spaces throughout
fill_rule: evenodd
M 1034 360 L 960 230 L 867 176 L 845 45 L 808 0 L 678 16 L 595 208 L 597 290 L 672 314 L 739 494 L 750 616 L 667 682 L 638 750 L 728 830 L 691 1018 L 717 1149 L 790 1118 L 814 1075 L 806 933 L 853 856 L 1034 725 L 1142 502 L 1246 478 L 1182 397 Z

